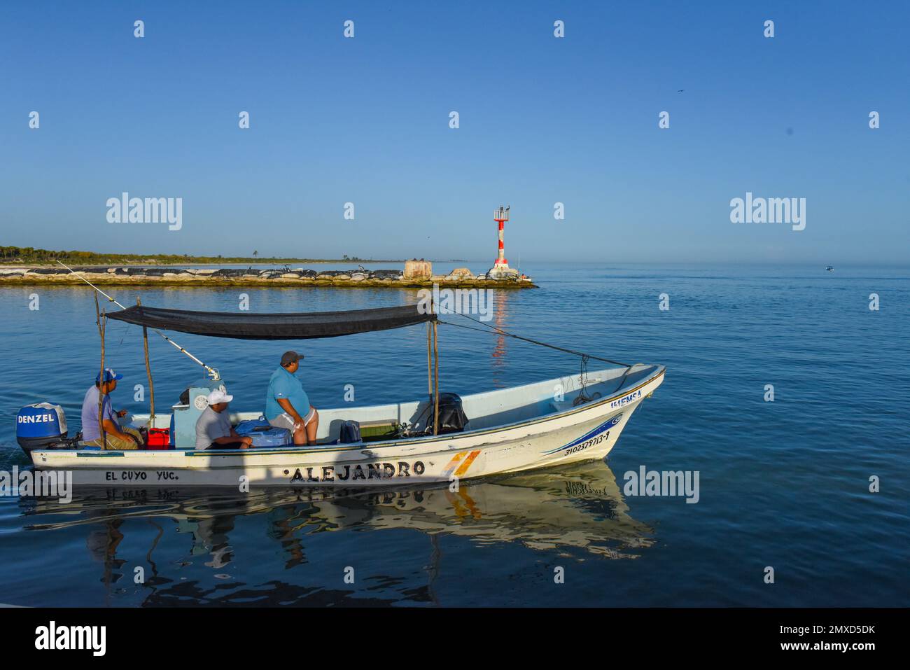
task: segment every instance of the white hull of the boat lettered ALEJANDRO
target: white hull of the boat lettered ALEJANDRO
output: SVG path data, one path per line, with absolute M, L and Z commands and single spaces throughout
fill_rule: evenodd
M 600 399 L 577 407 L 566 401 L 549 402 L 547 406 L 553 411 L 528 418 L 521 418 L 521 414 L 527 413 L 528 407 L 539 407 L 548 401 L 545 394 L 550 394 L 552 388 L 559 386 L 577 393 L 578 376 L 465 396 L 466 411 L 470 407 L 476 416 L 481 407 L 491 407 L 489 416 L 470 421 L 470 430 L 447 435 L 217 452 L 45 450 L 32 452 L 32 459 L 39 470 L 72 471 L 74 482 L 82 485 L 220 485 L 241 490 L 261 485 L 360 487 L 451 482 L 521 472 L 606 456 L 632 412 L 663 381 L 662 366 L 635 366 L 632 373 L 624 371 L 588 373 L 586 391 L 613 391 L 602 393 Z M 512 409 L 507 407 L 512 398 L 507 395 L 510 392 L 515 397 L 523 394 Z M 566 395 L 570 397 L 569 393 Z M 389 407 L 397 407 L 400 413 L 410 405 L 381 409 L 388 412 Z M 503 409 L 497 413 L 500 408 Z M 325 418 L 326 414 L 332 416 L 339 411 L 320 411 L 320 416 Z M 360 411 L 366 416 L 370 412 L 381 413 L 380 408 Z M 517 417 L 518 421 L 483 425 L 496 417 Z M 473 427 L 475 423 L 477 428 Z

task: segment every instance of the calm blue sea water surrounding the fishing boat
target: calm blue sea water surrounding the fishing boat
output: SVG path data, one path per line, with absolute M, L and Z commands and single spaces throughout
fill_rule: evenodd
M 459 264 L 461 265 L 461 264 Z M 480 267 L 479 264 L 468 264 Z M 445 266 L 441 266 L 445 269 Z M 0 601 L 156 604 L 910 604 L 910 271 L 796 266 L 528 265 L 539 290 L 497 296 L 497 325 L 667 366 L 607 462 L 358 492 L 96 490 L 64 505 L 0 498 Z M 251 310 L 357 309 L 410 291 L 244 289 Z M 78 423 L 98 366 L 90 289 L 0 289 L 0 469 L 25 465 L 15 412 L 48 400 Z M 144 304 L 236 310 L 239 290 L 141 289 Z M 878 293 L 881 310 L 868 309 Z M 658 296 L 670 296 L 669 311 Z M 125 304 L 136 289 L 117 289 Z M 450 319 L 460 319 L 450 317 Z M 197 367 L 151 337 L 159 404 Z M 573 357 L 440 327 L 441 387 L 470 393 L 578 370 Z M 426 390 L 422 328 L 284 343 L 177 340 L 216 366 L 234 407 L 261 405 L 286 348 L 310 398 Z M 110 322 L 107 361 L 145 382 L 141 330 Z M 594 367 L 594 366 L 592 366 Z M 763 401 L 765 384 L 775 401 Z M 77 426 L 74 426 L 76 430 Z M 622 494 L 624 472 L 699 471 L 701 500 Z M 876 475 L 881 492 L 868 492 Z M 135 584 L 136 566 L 146 583 Z M 554 584 L 553 569 L 565 570 Z M 775 583 L 763 583 L 773 566 Z M 352 567 L 355 583 L 346 584 Z

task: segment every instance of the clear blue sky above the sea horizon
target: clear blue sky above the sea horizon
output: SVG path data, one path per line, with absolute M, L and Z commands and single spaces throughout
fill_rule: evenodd
M 492 260 L 511 204 L 522 264 L 903 263 L 908 7 L 6 4 L 0 244 Z M 107 223 L 122 191 L 183 228 Z M 805 230 L 733 225 L 746 191 L 806 198 Z

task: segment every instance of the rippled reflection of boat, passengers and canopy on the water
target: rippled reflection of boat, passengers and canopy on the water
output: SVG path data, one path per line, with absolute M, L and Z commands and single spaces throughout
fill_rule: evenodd
M 307 553 L 308 543 L 317 539 L 313 533 L 424 533 L 430 543 L 424 556 L 418 558 L 429 577 L 428 595 L 422 598 L 428 602 L 435 600 L 432 582 L 439 571 L 439 538 L 443 535 L 467 538 L 472 543 L 520 543 L 532 550 L 572 551 L 576 556 L 595 554 L 609 559 L 635 558 L 653 542 L 652 529 L 629 516 L 616 478 L 602 461 L 461 482 L 457 492 L 446 485 L 369 490 L 263 487 L 248 493 L 226 492 L 224 487 L 77 487 L 71 503 L 32 497 L 23 498 L 20 504 L 29 517 L 27 528 L 32 531 L 73 532 L 85 527 L 89 553 L 104 566 L 100 581 L 108 596 L 117 583 L 132 587 L 134 566 L 144 565 L 145 583 L 136 585 L 136 590 L 146 591 L 136 594 L 140 595 L 138 604 L 179 604 L 181 600 L 213 604 L 215 599 L 221 604 L 236 603 L 224 592 L 230 586 L 217 580 L 239 578 L 225 573 L 231 568 L 240 571 L 236 563 L 244 558 L 245 550 L 262 554 L 261 547 L 254 551 L 251 546 L 261 543 L 261 531 L 251 538 L 244 517 L 258 516 L 260 524 L 265 523 L 266 534 L 280 546 L 280 561 L 286 571 L 304 563 L 318 563 L 314 558 L 318 549 L 310 547 L 310 555 Z M 244 533 L 236 528 L 241 520 Z M 127 538 L 127 534 L 141 537 Z M 242 536 L 234 537 L 232 543 L 232 534 Z M 127 539 L 134 554 L 129 561 L 117 557 Z M 364 540 L 361 535 L 356 542 Z M 145 548 L 139 552 L 144 555 L 136 555 L 136 543 Z M 156 553 L 162 553 L 166 543 L 170 545 L 167 557 L 156 561 Z M 274 550 L 269 553 L 275 554 Z M 182 558 L 174 561 L 175 555 Z M 200 559 L 207 566 L 208 576 L 216 580 L 203 590 L 198 580 L 189 588 L 187 582 L 181 582 L 187 577 L 180 574 L 184 566 L 197 563 L 198 567 Z M 333 597 L 346 598 L 352 604 L 387 602 L 288 584 L 276 574 L 258 576 L 263 576 L 268 594 L 244 584 L 245 603 L 255 599 L 251 604 L 327 604 Z M 316 591 L 319 602 L 311 597 Z

